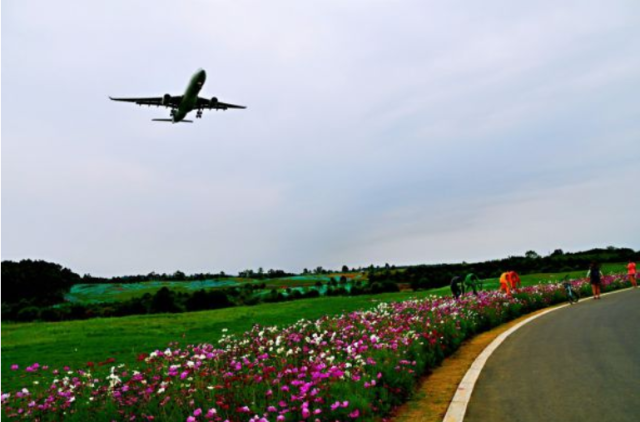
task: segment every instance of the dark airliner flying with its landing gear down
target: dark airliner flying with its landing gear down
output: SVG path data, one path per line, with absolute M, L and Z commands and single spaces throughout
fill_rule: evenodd
M 171 122 L 171 123 L 193 123 L 193 120 L 185 120 L 187 114 L 193 110 L 196 111 L 196 119 L 202 118 L 202 110 L 226 110 L 228 108 L 246 108 L 234 104 L 227 104 L 218 101 L 216 97 L 211 99 L 199 97 L 198 94 L 207 79 L 207 73 L 204 69 L 198 71 L 191 77 L 189 85 L 183 95 L 164 94 L 162 97 L 147 98 L 112 98 L 113 101 L 126 101 L 136 103 L 140 106 L 147 105 L 149 107 L 168 107 L 171 109 L 170 119 L 151 119 L 154 122 Z

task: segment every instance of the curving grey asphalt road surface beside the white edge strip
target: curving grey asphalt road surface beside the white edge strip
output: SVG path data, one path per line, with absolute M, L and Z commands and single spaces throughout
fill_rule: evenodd
M 464 421 L 640 421 L 640 289 L 513 333 L 487 361 Z

